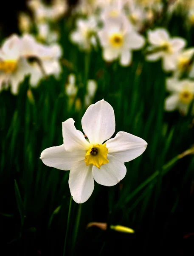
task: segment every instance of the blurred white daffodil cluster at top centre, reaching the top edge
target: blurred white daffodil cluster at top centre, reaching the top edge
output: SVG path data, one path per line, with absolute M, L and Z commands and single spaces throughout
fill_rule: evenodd
M 105 61 L 119 59 L 122 66 L 128 66 L 132 61 L 132 50 L 141 49 L 145 43 L 137 31 L 139 20 L 137 23 L 130 21 L 130 9 L 125 11 L 127 3 L 124 1 L 97 1 L 94 7 L 99 14 L 77 20 L 70 40 L 84 50 L 90 50 L 99 41 Z M 135 15 L 136 9 L 131 10 L 131 14 L 133 11 Z

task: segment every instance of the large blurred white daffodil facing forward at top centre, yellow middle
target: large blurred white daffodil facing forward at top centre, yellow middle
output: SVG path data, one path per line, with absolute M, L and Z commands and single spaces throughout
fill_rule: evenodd
M 132 29 L 130 23 L 118 22 L 106 23 L 104 28 L 98 32 L 101 46 L 103 47 L 103 58 L 111 62 L 120 60 L 122 66 L 128 66 L 132 61 L 132 50 L 141 49 L 145 39 Z

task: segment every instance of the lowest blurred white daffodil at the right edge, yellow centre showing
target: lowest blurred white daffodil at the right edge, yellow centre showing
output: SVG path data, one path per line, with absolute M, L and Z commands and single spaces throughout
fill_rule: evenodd
M 166 88 L 171 95 L 166 98 L 165 110 L 179 110 L 186 114 L 194 98 L 194 82 L 188 79 L 177 80 L 176 78 L 166 79 Z

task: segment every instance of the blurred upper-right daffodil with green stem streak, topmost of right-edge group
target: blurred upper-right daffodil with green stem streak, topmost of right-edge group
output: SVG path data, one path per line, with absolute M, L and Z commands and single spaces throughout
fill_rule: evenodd
M 152 46 L 146 59 L 148 61 L 163 60 L 163 69 L 172 71 L 176 68 L 177 54 L 186 46 L 186 40 L 180 37 L 170 38 L 166 29 L 155 29 L 148 31 L 148 41 Z

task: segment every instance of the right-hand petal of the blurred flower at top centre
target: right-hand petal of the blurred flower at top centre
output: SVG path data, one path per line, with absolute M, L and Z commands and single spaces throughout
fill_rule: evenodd
M 127 38 L 127 45 L 130 49 L 140 49 L 145 44 L 145 38 L 136 32 L 131 32 Z

